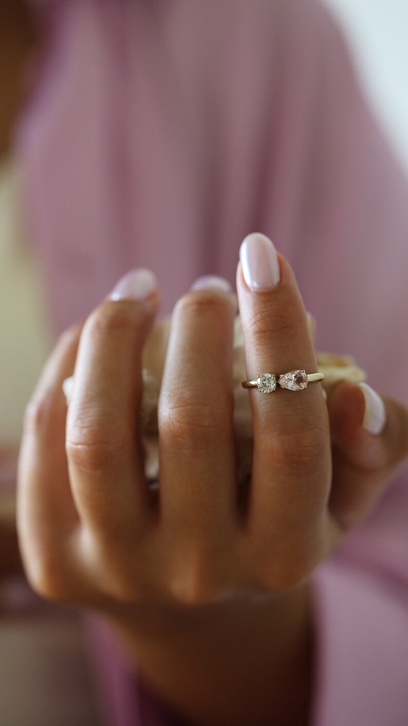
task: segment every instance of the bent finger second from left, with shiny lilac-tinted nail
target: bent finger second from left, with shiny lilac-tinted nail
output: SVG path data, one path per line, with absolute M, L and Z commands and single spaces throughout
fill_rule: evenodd
M 78 513 L 101 547 L 136 539 L 149 520 L 137 415 L 142 346 L 158 310 L 155 277 L 124 277 L 83 327 L 66 452 Z

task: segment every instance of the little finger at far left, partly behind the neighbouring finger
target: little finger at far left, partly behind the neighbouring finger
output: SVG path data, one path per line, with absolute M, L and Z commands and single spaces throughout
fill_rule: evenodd
M 67 407 L 62 381 L 75 364 L 82 323 L 57 343 L 25 411 L 17 472 L 17 527 L 31 582 L 46 589 L 62 576 L 68 535 L 78 525 L 65 457 Z

